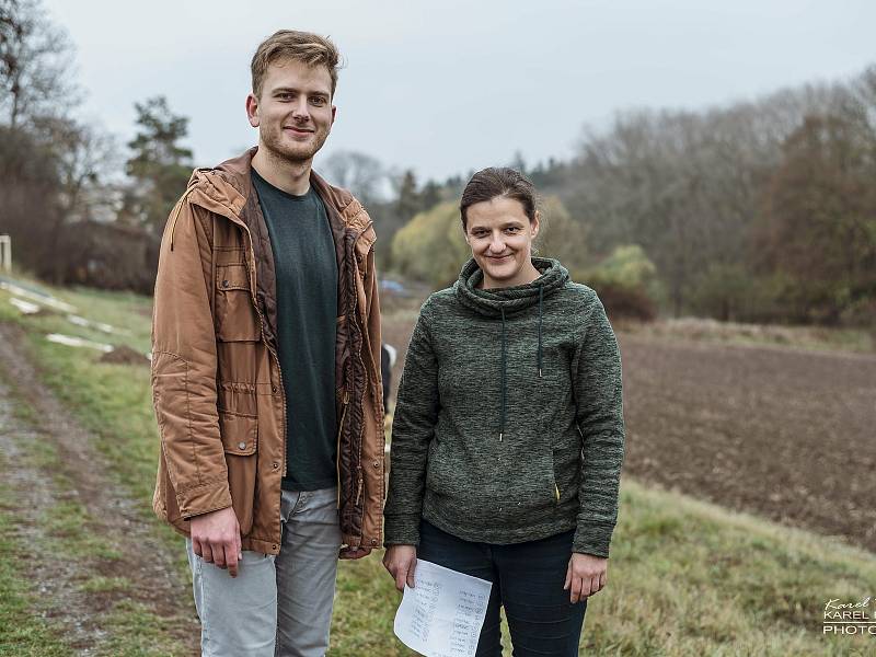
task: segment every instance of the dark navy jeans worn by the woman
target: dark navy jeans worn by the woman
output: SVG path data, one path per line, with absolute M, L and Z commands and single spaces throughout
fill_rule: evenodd
M 587 610 L 587 600 L 572 604 L 563 590 L 574 533 L 495 545 L 463 541 L 424 520 L 417 557 L 493 583 L 477 657 L 502 657 L 503 606 L 515 657 L 573 657 Z

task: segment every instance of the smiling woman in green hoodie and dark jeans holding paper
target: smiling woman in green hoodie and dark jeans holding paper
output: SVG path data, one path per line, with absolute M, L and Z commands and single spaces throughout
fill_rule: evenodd
M 493 583 L 479 656 L 577 655 L 606 586 L 624 449 L 621 360 L 596 293 L 532 257 L 532 184 L 472 176 L 460 203 L 472 260 L 424 303 L 392 430 L 383 564 L 417 557 Z

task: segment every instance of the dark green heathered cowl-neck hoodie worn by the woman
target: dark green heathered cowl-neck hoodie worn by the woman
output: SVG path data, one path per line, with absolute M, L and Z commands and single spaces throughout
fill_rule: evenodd
M 466 541 L 575 529 L 608 556 L 624 453 L 621 358 L 602 303 L 556 261 L 534 281 L 482 290 L 469 261 L 411 336 L 392 427 L 385 544 L 419 522 Z

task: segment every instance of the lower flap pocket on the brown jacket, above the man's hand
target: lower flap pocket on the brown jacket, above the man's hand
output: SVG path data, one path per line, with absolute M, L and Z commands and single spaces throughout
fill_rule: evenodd
M 241 535 L 253 527 L 258 420 L 255 415 L 219 411 L 219 431 L 228 465 L 231 506 L 240 522 Z

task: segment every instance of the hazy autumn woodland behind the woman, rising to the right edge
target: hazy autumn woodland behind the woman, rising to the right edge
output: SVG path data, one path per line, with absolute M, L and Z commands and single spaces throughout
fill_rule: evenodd
M 542 254 L 616 314 L 876 324 L 876 66 L 701 112 L 622 112 L 569 161 L 511 164 L 542 193 Z M 389 266 L 447 285 L 458 229 L 452 203 L 422 208 Z

